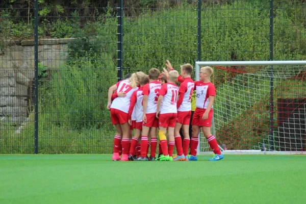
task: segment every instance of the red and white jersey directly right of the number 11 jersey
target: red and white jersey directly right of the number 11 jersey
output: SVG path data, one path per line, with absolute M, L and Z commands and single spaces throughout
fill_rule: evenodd
M 194 82 L 191 78 L 186 78 L 181 84 L 179 93 L 184 93 L 184 98 L 181 106 L 177 111 L 191 111 L 191 96 L 194 89 Z M 180 94 L 179 94 L 180 95 Z

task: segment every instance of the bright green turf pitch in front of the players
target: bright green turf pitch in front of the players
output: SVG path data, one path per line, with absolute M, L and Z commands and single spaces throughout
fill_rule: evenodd
M 0 155 L 0 203 L 303 203 L 306 157 L 112 162 L 110 155 Z

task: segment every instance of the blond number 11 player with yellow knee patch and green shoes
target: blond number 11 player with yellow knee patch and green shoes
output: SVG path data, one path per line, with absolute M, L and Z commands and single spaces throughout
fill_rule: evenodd
M 159 139 L 161 142 L 161 148 L 163 152 L 163 155 L 161 155 L 157 159 L 159 161 L 173 160 L 172 156 L 175 144 L 174 127 L 175 127 L 176 114 L 177 114 L 176 99 L 177 99 L 177 93 L 179 92 L 179 87 L 175 85 L 177 77 L 179 77 L 179 72 L 175 70 L 170 71 L 167 79 L 168 83 L 164 84 L 159 92 L 156 117 L 159 118 Z M 166 138 L 167 130 L 168 130 L 168 139 L 169 139 L 168 148 L 167 148 L 167 138 Z

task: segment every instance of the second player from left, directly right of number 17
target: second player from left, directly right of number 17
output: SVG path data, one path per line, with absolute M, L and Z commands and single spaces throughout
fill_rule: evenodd
M 140 88 L 132 94 L 131 97 L 131 104 L 129 108 L 129 123 L 132 125 L 132 116 L 133 113 L 135 113 L 135 135 L 132 138 L 131 148 L 130 148 L 130 154 L 129 154 L 129 160 L 135 160 L 136 159 L 136 145 L 138 143 L 138 140 L 141 136 L 142 131 L 142 117 L 143 117 L 143 107 L 142 107 L 142 100 L 143 100 L 143 86 L 146 85 L 149 82 L 149 78 L 147 75 L 143 75 L 139 79 Z

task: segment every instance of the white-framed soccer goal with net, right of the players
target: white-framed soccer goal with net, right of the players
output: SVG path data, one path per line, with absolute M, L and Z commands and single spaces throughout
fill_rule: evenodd
M 306 61 L 196 62 L 214 69 L 212 134 L 224 154 L 305 154 Z M 202 133 L 198 154 L 210 148 Z

